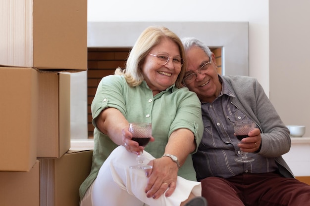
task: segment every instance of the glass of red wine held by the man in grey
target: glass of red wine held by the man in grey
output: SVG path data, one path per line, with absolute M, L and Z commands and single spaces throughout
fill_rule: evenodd
M 237 121 L 234 124 L 234 130 L 237 138 L 241 141 L 245 137 L 249 137 L 249 132 L 255 128 L 255 123 L 252 121 Z M 235 159 L 239 163 L 250 163 L 255 159 L 248 156 L 247 152 L 241 151 L 241 157 Z

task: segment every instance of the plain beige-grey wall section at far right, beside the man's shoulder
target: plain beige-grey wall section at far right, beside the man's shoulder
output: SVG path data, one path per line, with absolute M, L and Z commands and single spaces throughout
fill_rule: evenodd
M 270 0 L 270 100 L 310 136 L 310 1 Z M 251 45 L 250 45 L 251 46 Z

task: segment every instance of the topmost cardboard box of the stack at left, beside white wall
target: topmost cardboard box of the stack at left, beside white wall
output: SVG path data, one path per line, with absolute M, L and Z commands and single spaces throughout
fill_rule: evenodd
M 87 0 L 1 4 L 0 65 L 87 70 Z

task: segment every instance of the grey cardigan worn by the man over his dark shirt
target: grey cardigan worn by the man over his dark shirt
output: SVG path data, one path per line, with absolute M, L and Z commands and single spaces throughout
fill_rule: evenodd
M 235 92 L 231 102 L 244 114 L 250 117 L 260 128 L 261 149 L 259 155 L 274 158 L 279 172 L 284 177 L 294 177 L 293 172 L 281 155 L 291 147 L 289 130 L 281 121 L 275 108 L 266 96 L 262 86 L 252 77 L 221 76 Z

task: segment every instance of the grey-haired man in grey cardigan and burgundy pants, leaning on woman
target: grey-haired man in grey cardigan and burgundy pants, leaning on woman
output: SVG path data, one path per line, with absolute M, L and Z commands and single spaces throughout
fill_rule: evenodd
M 258 81 L 218 75 L 214 54 L 203 42 L 182 41 L 188 64 L 183 83 L 202 106 L 205 130 L 193 161 L 208 205 L 310 205 L 310 186 L 295 179 L 281 157 L 290 150 L 289 130 Z M 256 125 L 241 142 L 234 134 L 237 121 Z M 255 160 L 236 162 L 242 152 Z

